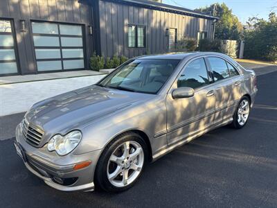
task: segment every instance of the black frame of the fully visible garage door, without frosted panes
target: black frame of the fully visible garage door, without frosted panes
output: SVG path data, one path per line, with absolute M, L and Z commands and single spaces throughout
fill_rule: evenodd
M 44 34 L 44 33 L 33 33 L 33 26 L 32 23 L 48 23 L 48 24 L 57 24 L 57 34 Z M 72 25 L 72 26 L 81 26 L 82 35 L 61 35 L 60 34 L 60 25 Z M 86 58 L 86 35 L 84 31 L 84 24 L 76 24 L 72 22 L 64 22 L 64 21 L 45 21 L 41 19 L 30 19 L 30 35 L 32 37 L 32 46 L 34 51 L 34 60 L 35 60 L 35 67 L 37 69 L 37 73 L 51 73 L 51 72 L 62 72 L 62 71 L 80 71 L 87 69 L 87 58 Z M 47 37 L 58 37 L 59 39 L 59 46 L 35 46 L 34 36 L 47 36 Z M 79 37 L 82 38 L 82 46 L 62 46 L 62 37 Z M 35 49 L 58 49 L 60 50 L 60 58 L 37 58 L 35 55 Z M 82 58 L 63 58 L 62 56 L 62 49 L 82 49 L 83 50 L 83 57 Z M 79 69 L 64 69 L 64 61 L 66 60 L 83 60 L 84 61 L 84 68 Z M 57 70 L 47 70 L 47 71 L 39 71 L 37 68 L 37 62 L 39 61 L 61 61 L 62 69 Z

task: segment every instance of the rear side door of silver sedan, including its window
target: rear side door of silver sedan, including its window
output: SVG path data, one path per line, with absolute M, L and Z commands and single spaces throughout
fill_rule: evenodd
M 233 97 L 233 79 L 226 61 L 219 57 L 208 57 L 209 69 L 213 73 L 215 89 L 215 125 L 229 121 L 235 106 Z

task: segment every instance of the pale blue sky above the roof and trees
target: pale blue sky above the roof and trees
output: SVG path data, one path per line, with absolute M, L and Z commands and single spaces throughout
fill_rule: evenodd
M 209 6 L 212 3 L 226 3 L 233 10 L 240 21 L 245 24 L 249 17 L 259 17 L 268 19 L 268 15 L 275 6 L 277 12 L 277 0 L 162 0 L 163 3 L 183 6 L 189 9 L 195 9 L 203 6 Z

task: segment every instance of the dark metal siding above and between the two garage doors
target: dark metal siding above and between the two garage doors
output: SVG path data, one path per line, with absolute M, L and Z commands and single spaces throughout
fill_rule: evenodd
M 1 17 L 10 18 L 15 24 L 19 65 L 23 74 L 37 71 L 33 40 L 30 34 L 32 19 L 84 24 L 84 58 L 87 60 L 85 64 L 88 68 L 89 57 L 93 51 L 93 40 L 88 30 L 88 26 L 92 24 L 92 9 L 87 3 L 79 3 L 78 0 L 1 0 L 0 19 Z M 24 33 L 21 31 L 20 19 L 26 20 Z

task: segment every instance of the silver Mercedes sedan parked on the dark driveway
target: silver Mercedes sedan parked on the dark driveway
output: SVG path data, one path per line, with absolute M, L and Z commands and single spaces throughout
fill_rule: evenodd
M 33 105 L 14 144 L 55 189 L 124 191 L 145 163 L 222 125 L 242 128 L 256 93 L 255 73 L 227 55 L 143 56 Z

